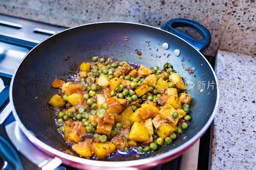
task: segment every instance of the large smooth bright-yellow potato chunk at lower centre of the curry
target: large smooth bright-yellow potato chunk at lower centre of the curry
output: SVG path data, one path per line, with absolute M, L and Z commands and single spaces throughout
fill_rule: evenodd
M 134 122 L 129 134 L 129 139 L 139 142 L 148 140 L 148 129 L 145 128 L 140 122 Z

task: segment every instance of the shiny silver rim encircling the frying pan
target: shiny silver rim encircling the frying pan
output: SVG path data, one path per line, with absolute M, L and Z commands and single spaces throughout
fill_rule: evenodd
M 102 24 L 102 23 L 125 23 L 125 24 L 134 24 L 134 25 L 141 25 L 141 26 L 147 26 L 147 27 L 151 27 L 151 28 L 154 28 L 154 29 L 158 29 L 158 30 L 161 30 L 161 31 L 164 31 L 166 33 L 169 33 L 168 31 L 165 31 L 165 30 L 162 30 L 160 28 L 157 28 L 157 27 L 154 27 L 154 26 L 148 26 L 148 25 L 145 25 L 145 24 L 139 24 L 139 23 L 133 23 L 133 22 L 123 22 L 123 21 L 106 21 L 106 22 L 94 22 L 94 23 L 88 23 L 88 24 L 84 24 L 84 25 L 79 25 L 79 26 L 74 26 L 74 27 L 71 27 L 71 28 L 68 28 L 66 30 L 63 30 L 63 31 L 60 31 L 59 33 L 62 33 L 64 31 L 67 31 L 67 30 L 70 30 L 70 29 L 73 29 L 73 28 L 76 28 L 76 27 L 81 27 L 81 26 L 87 26 L 87 25 L 93 25 L 93 24 Z M 56 33 L 58 34 L 58 33 Z M 54 34 L 54 35 L 56 35 Z M 173 34 L 173 33 L 169 33 L 173 36 L 176 36 L 177 38 L 180 38 L 179 36 Z M 52 36 L 54 36 L 52 35 Z M 34 48 L 36 48 L 38 45 L 40 45 L 41 43 L 43 43 L 44 41 L 48 40 L 49 38 L 51 38 L 52 36 L 46 38 L 45 40 L 41 41 L 39 44 L 37 44 Z M 186 40 L 180 38 L 181 40 L 185 41 L 186 43 L 188 43 Z M 210 66 L 211 70 L 212 70 L 212 73 L 213 73 L 213 76 L 215 78 L 215 81 L 217 82 L 217 76 L 211 66 L 211 64 L 208 62 L 208 60 L 204 57 L 204 55 L 199 52 L 199 50 L 197 50 L 193 45 L 191 45 L 190 43 L 188 43 L 190 46 L 192 46 L 203 58 L 204 60 L 208 63 L 208 65 Z M 28 54 L 34 49 L 32 48 Z M 19 63 L 18 67 L 16 68 L 16 70 L 14 71 L 14 74 L 12 76 L 12 80 L 11 80 L 11 84 L 10 84 L 10 91 L 9 91 L 9 96 L 10 96 L 10 103 L 12 105 L 12 113 L 14 115 L 14 118 L 15 120 L 18 122 L 18 125 L 20 127 L 20 129 L 22 130 L 22 132 L 25 134 L 25 136 L 29 139 L 29 141 L 31 143 L 33 143 L 34 145 L 36 145 L 39 149 L 43 149 L 47 152 L 50 152 L 52 153 L 53 155 L 59 157 L 59 158 L 63 158 L 63 159 L 68 159 L 69 161 L 73 161 L 73 162 L 77 162 L 77 163 L 81 163 L 81 164 L 86 164 L 86 165 L 91 165 L 91 166 L 104 166 L 104 167 L 131 167 L 131 166 L 138 166 L 138 165 L 143 165 L 143 164 L 147 164 L 147 163 L 150 163 L 150 162 L 155 162 L 157 160 L 161 160 L 161 159 L 164 159 L 164 158 L 167 158 L 169 156 L 172 156 L 172 155 L 175 155 L 175 154 L 178 154 L 179 152 L 181 151 L 184 151 L 186 149 L 188 149 L 193 143 L 195 143 L 203 134 L 204 132 L 208 129 L 208 127 L 211 125 L 212 121 L 213 121 L 213 118 L 214 118 L 214 115 L 216 114 L 216 111 L 217 111 L 217 108 L 218 108 L 218 104 L 219 104 L 219 96 L 220 96 L 220 91 L 219 89 L 217 88 L 217 98 L 216 98 L 216 102 L 215 102 L 215 106 L 214 106 L 214 109 L 213 109 L 213 112 L 212 112 L 212 115 L 211 117 L 209 118 L 209 120 L 206 122 L 206 124 L 203 126 L 203 128 L 197 132 L 197 134 L 195 136 L 193 136 L 192 138 L 190 138 L 187 142 L 185 142 L 184 144 L 181 144 L 180 146 L 174 148 L 173 150 L 170 150 L 168 152 L 164 152 L 162 154 L 159 154 L 159 155 L 156 155 L 156 156 L 153 156 L 153 157 L 149 157 L 149 158 L 144 158 L 144 159 L 137 159 L 137 160 L 129 160 L 129 161 L 99 161 L 99 160 L 91 160 L 91 159 L 84 159 L 84 158 L 79 158 L 79 157 L 76 157 L 76 156 L 72 156 L 72 155 L 69 155 L 67 153 L 64 153 L 64 152 L 61 152 L 55 148 L 52 148 L 51 146 L 45 144 L 44 142 L 42 142 L 41 140 L 39 140 L 37 137 L 35 137 L 24 125 L 23 123 L 21 122 L 16 110 L 15 110 L 15 107 L 14 107 L 14 103 L 13 103 L 13 97 L 12 97 L 12 87 L 13 87 L 13 82 L 14 82 L 14 78 L 15 78 L 15 75 L 17 73 L 17 70 L 19 69 L 21 63 L 23 62 L 23 60 L 27 57 L 26 54 L 24 56 L 24 58 L 21 60 L 21 62 Z M 160 163 L 158 163 L 160 164 Z M 156 164 L 156 165 L 158 165 Z M 156 166 L 155 165 L 155 166 Z

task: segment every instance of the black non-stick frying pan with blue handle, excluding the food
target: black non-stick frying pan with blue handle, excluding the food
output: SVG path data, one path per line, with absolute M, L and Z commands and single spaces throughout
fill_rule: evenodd
M 179 26 L 195 29 L 202 35 L 203 40 L 197 41 L 177 31 L 175 27 Z M 128 41 L 125 41 L 124 37 L 128 37 Z M 127 22 L 93 23 L 67 29 L 42 41 L 20 63 L 12 77 L 10 87 L 13 115 L 23 133 L 33 144 L 52 157 L 61 159 L 64 164 L 76 168 L 96 169 L 99 166 L 111 169 L 114 167 L 148 168 L 162 164 L 188 149 L 204 134 L 213 120 L 219 96 L 216 89 L 216 76 L 210 64 L 199 52 L 204 52 L 210 41 L 211 35 L 204 26 L 187 19 L 171 20 L 162 29 Z M 162 48 L 164 42 L 169 44 L 167 50 Z M 142 52 L 141 56 L 136 54 L 136 49 Z M 174 49 L 180 50 L 178 57 L 174 56 Z M 166 62 L 171 63 L 174 69 L 185 78 L 185 82 L 190 80 L 195 85 L 188 90 L 193 98 L 190 106 L 192 119 L 188 129 L 177 137 L 172 145 L 161 147 L 140 157 L 128 155 L 96 161 L 63 153 L 69 146 L 57 132 L 51 107 L 47 107 L 47 102 L 56 93 L 51 84 L 55 76 L 67 78 L 67 74 L 76 70 L 80 63 L 91 61 L 95 55 L 117 58 L 120 61 L 132 61 L 148 67 L 162 67 Z M 185 60 L 184 68 L 189 66 L 196 68 L 194 73 L 196 77 L 184 70 L 182 58 Z M 200 93 L 197 89 L 198 81 L 206 83 L 210 81 L 215 84 L 213 89 L 205 88 Z M 36 96 L 38 99 L 35 100 Z

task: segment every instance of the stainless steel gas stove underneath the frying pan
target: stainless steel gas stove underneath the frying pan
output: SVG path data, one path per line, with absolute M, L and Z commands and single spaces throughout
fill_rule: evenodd
M 51 166 L 49 160 L 52 158 L 30 143 L 19 129 L 9 104 L 9 85 L 14 70 L 29 50 L 47 37 L 65 29 L 65 27 L 0 15 L 0 136 L 2 137 L 0 142 L 6 145 L 5 149 L 0 149 L 2 150 L 0 151 L 1 169 L 41 169 Z M 213 63 L 212 58 L 209 60 L 210 63 Z M 209 134 L 210 130 L 207 130 L 200 141 L 198 140 L 182 156 L 153 169 L 208 168 Z M 55 169 L 74 168 L 60 165 Z

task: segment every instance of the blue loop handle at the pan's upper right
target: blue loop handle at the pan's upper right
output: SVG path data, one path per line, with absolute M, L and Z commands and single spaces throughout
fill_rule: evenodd
M 192 28 L 192 29 L 196 30 L 203 37 L 203 40 L 198 41 L 198 40 L 194 39 L 193 37 L 189 36 L 188 34 L 175 29 L 177 27 Z M 180 38 L 188 41 L 191 45 L 193 45 L 201 53 L 204 53 L 211 44 L 212 37 L 211 37 L 211 34 L 208 31 L 208 29 L 205 28 L 204 26 L 202 26 L 201 24 L 199 24 L 195 21 L 189 20 L 189 19 L 185 19 L 185 18 L 172 19 L 172 20 L 166 22 L 161 27 L 161 29 L 168 31 L 170 33 L 173 33 L 173 34 L 179 36 Z

